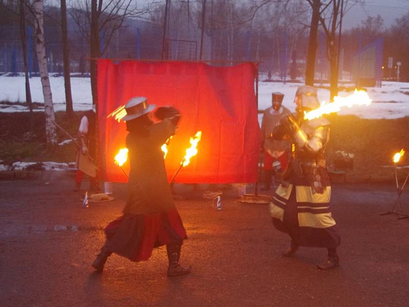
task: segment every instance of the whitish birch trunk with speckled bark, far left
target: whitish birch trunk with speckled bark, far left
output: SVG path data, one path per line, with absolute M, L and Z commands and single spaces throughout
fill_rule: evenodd
M 42 94 L 44 96 L 44 111 L 46 114 L 46 136 L 49 145 L 57 144 L 53 96 L 47 70 L 46 47 L 43 32 L 43 0 L 34 0 L 35 32 L 38 68 L 40 70 Z

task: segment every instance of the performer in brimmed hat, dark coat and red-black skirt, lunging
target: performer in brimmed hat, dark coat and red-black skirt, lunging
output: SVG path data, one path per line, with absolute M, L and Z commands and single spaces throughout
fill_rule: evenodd
M 97 271 L 103 271 L 112 252 L 141 261 L 149 259 L 153 248 L 163 245 L 169 258 L 168 276 L 191 271 L 191 267 L 179 265 L 181 245 L 187 235 L 172 200 L 161 150 L 175 134 L 180 114 L 171 106 L 160 107 L 155 115 L 162 121 L 154 124 L 150 113 L 153 108 L 145 97 L 134 97 L 125 105 L 128 198 L 123 216 L 105 228 L 106 243 L 92 264 Z

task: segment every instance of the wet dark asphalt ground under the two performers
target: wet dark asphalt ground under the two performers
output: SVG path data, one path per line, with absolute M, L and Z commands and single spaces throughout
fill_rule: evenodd
M 176 206 L 189 239 L 186 276 L 166 276 L 164 247 L 149 261 L 109 257 L 102 274 L 90 266 L 103 228 L 121 215 L 126 185 L 115 200 L 82 208 L 65 172 L 0 181 L 0 305 L 2 306 L 407 306 L 409 219 L 380 215 L 396 200 L 393 184 L 335 184 L 332 214 L 342 236 L 340 268 L 317 270 L 325 249 L 282 256 L 286 234 L 268 205 L 242 204 L 229 186 L 176 185 Z M 222 209 L 203 199 L 223 189 Z M 270 191 L 272 193 L 272 190 Z M 409 191 L 403 210 L 409 212 Z

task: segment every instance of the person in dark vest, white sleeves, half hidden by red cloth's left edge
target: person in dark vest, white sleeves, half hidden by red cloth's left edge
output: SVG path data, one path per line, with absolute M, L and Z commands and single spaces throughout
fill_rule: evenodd
M 80 155 L 86 156 L 87 160 L 91 163 L 95 161 L 95 128 L 96 128 L 96 107 L 93 105 L 92 109 L 85 112 L 84 116 L 81 118 L 81 123 L 78 128 L 78 138 L 80 143 L 80 148 L 78 148 L 77 154 L 77 172 L 75 175 L 75 188 L 74 191 L 81 190 L 81 182 L 84 178 L 84 172 L 80 170 Z M 97 177 L 89 178 L 89 192 L 98 192 L 98 179 Z

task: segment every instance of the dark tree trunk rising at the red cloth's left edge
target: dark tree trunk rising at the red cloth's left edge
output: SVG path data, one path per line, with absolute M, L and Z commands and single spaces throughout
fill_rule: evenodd
M 89 71 L 91 75 L 91 92 L 93 95 L 93 104 L 98 103 L 97 94 L 97 59 L 100 57 L 100 39 L 98 27 L 97 0 L 91 1 L 91 29 L 89 42 L 90 63 Z

